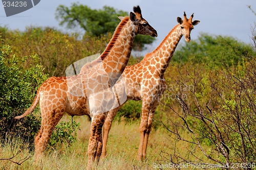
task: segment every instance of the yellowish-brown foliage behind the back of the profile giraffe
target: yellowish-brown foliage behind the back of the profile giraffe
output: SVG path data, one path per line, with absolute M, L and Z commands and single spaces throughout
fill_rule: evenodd
M 45 74 L 65 76 L 66 68 L 75 61 L 93 54 L 102 53 L 111 35 L 99 37 L 84 36 L 78 40 L 76 34 L 68 35 L 51 28 L 27 28 L 24 32 L 3 32 L 6 42 L 12 46 L 17 57 L 37 54 L 35 66 L 41 63 Z

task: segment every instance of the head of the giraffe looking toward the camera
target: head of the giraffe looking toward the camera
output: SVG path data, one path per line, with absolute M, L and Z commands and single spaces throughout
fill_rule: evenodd
M 190 16 L 189 19 L 186 17 L 186 13 L 184 12 L 184 20 L 181 19 L 181 17 L 177 18 L 177 21 L 180 23 L 180 28 L 182 35 L 185 36 L 185 40 L 187 42 L 190 41 L 190 32 L 194 29 L 194 26 L 198 25 L 200 22 L 199 20 L 192 21 L 194 14 Z

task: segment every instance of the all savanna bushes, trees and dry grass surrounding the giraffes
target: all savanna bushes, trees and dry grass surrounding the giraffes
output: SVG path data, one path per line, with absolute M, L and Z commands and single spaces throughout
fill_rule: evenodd
M 94 16 L 72 21 L 88 10 L 73 4 L 59 6 L 56 12 L 61 24 L 83 28 L 82 38 L 53 28 L 29 27 L 24 32 L 0 28 L 0 169 L 86 167 L 90 132 L 86 116 L 61 119 L 39 165 L 33 164 L 39 106 L 12 129 L 8 124 L 31 105 L 35 91 L 48 77 L 65 76 L 73 62 L 101 53 L 111 38 L 104 28 L 115 29 L 114 16 L 125 14 L 111 7 L 91 10 L 95 16 L 113 16 L 109 27 L 92 20 Z M 128 101 L 115 117 L 108 155 L 95 169 L 255 169 L 255 41 L 252 29 L 251 44 L 205 33 L 180 43 L 165 72 L 167 90 L 154 116 L 147 160 L 136 159 L 141 101 Z M 139 61 L 131 56 L 129 64 Z

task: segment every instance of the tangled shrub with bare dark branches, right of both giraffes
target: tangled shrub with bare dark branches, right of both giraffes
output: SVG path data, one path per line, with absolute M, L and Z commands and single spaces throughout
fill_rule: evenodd
M 255 64 L 255 56 L 245 55 L 236 66 L 224 62 L 212 69 L 191 61 L 173 66 L 176 75 L 167 84 L 175 84 L 175 94 L 186 98 L 164 100 L 170 109 L 164 125 L 177 142 L 190 143 L 185 157 L 178 148 L 168 153 L 173 163 L 202 163 L 200 153 L 220 165 L 256 161 Z

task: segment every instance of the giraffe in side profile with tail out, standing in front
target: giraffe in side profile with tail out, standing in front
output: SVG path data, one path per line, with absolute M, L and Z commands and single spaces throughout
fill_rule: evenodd
M 102 151 L 102 126 L 114 103 L 111 87 L 129 60 L 135 35 L 157 37 L 157 31 L 142 17 L 140 7 L 133 10 L 130 17 L 119 17 L 121 21 L 104 52 L 87 64 L 90 69 L 75 76 L 49 78 L 37 90 L 31 107 L 23 115 L 13 118 L 15 123 L 40 104 L 41 127 L 34 141 L 36 161 L 46 149 L 60 118 L 67 112 L 71 116 L 91 117 L 87 168 L 91 169 L 92 163 L 98 162 Z

